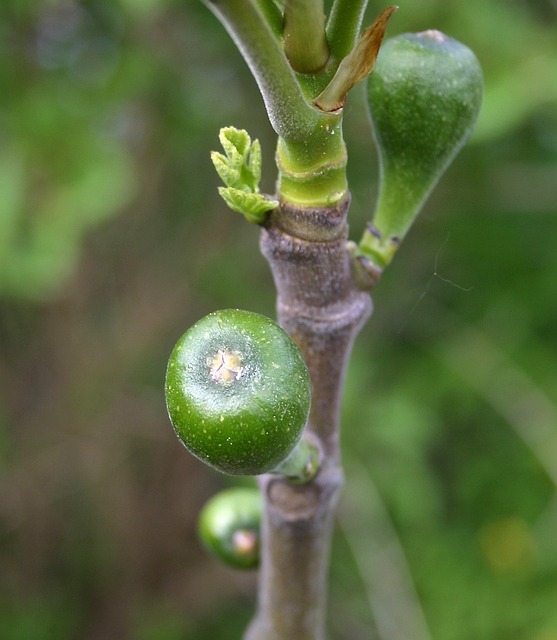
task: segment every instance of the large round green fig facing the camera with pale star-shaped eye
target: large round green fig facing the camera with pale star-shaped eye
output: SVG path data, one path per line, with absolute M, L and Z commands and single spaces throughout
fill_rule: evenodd
M 257 475 L 278 466 L 300 439 L 309 374 L 278 324 L 225 309 L 178 340 L 168 362 L 166 404 L 194 456 L 223 473 Z

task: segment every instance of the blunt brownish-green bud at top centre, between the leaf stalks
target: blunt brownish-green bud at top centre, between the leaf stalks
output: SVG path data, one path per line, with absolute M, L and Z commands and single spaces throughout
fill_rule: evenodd
M 288 0 L 284 8 L 284 52 L 294 71 L 316 73 L 329 59 L 323 0 Z

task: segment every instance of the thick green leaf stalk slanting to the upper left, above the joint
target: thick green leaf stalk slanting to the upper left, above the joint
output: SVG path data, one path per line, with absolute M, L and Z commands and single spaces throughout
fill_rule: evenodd
M 246 60 L 279 136 L 303 140 L 320 114 L 304 98 L 273 31 L 252 0 L 205 0 Z

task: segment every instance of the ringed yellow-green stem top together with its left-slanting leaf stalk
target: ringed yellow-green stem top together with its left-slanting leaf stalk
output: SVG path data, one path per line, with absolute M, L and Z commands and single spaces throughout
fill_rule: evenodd
M 279 40 L 255 1 L 205 3 L 248 63 L 271 125 L 279 135 L 276 157 L 280 197 L 299 206 L 334 205 L 347 191 L 342 109 L 324 113 L 306 99 Z

